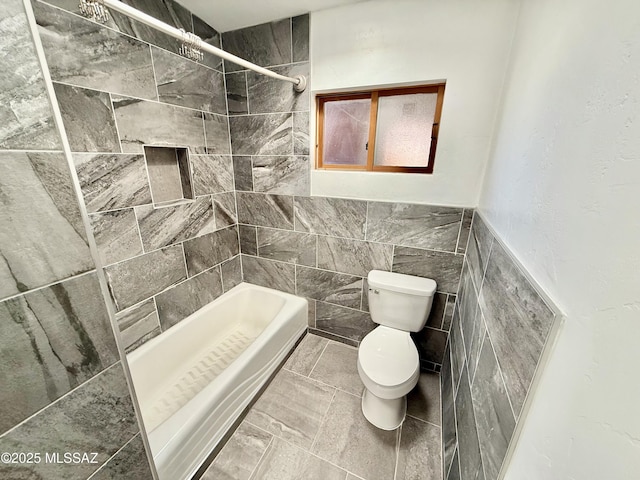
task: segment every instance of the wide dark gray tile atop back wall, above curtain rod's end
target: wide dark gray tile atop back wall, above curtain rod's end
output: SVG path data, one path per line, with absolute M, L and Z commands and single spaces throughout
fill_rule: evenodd
M 291 63 L 291 23 L 284 19 L 263 23 L 253 27 L 224 32 L 224 49 L 262 67 Z M 226 72 L 235 72 L 242 67 L 224 62 Z

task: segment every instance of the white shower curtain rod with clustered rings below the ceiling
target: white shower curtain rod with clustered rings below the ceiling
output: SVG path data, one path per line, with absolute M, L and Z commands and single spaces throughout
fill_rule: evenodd
M 287 77 L 284 75 L 280 75 L 278 73 L 272 72 L 271 70 L 267 70 L 266 68 L 260 67 L 254 63 L 251 63 L 243 58 L 237 57 L 232 53 L 225 52 L 220 48 L 214 47 L 213 45 L 209 45 L 202 41 L 200 37 L 194 35 L 193 33 L 185 32 L 184 30 L 180 30 L 178 28 L 172 27 L 171 25 L 167 25 L 164 22 L 152 17 L 151 15 L 147 15 L 140 10 L 137 10 L 129 5 L 122 3 L 119 0 L 81 0 L 81 9 L 83 5 L 88 6 L 87 9 L 90 11 L 89 16 L 93 16 L 94 18 L 100 19 L 101 16 L 104 16 L 104 11 L 100 11 L 100 6 L 104 5 L 109 8 L 113 8 L 120 13 L 127 15 L 139 22 L 142 22 L 150 27 L 155 28 L 167 35 L 170 35 L 178 40 L 183 41 L 183 45 L 186 44 L 188 49 L 197 49 L 204 50 L 205 52 L 209 52 L 217 57 L 224 58 L 225 60 L 229 60 L 230 62 L 235 63 L 236 65 L 240 65 L 241 67 L 248 68 L 253 70 L 254 72 L 261 73 L 262 75 L 267 75 L 272 78 L 277 78 L 278 80 L 283 80 L 285 82 L 293 83 L 293 87 L 296 92 L 303 92 L 307 88 L 307 78 L 304 75 L 298 75 L 296 77 Z M 184 46 L 183 46 L 184 48 Z M 192 50 L 193 51 L 193 50 Z M 198 52 L 199 53 L 199 52 Z

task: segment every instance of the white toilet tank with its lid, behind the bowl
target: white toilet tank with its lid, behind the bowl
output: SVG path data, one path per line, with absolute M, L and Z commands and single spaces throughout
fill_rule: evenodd
M 430 278 L 371 270 L 367 276 L 371 319 L 406 332 L 419 332 L 427 323 L 436 282 Z

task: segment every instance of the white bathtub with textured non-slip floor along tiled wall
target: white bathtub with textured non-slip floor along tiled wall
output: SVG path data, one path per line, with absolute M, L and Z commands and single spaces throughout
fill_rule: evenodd
M 127 355 L 161 480 L 189 479 L 307 328 L 307 301 L 242 283 Z

